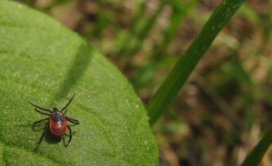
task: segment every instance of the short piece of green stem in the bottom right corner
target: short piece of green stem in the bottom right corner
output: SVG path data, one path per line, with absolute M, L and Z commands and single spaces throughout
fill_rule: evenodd
M 255 148 L 249 153 L 241 166 L 253 166 L 258 165 L 262 159 L 263 154 L 272 143 L 272 128 L 262 137 L 260 142 L 255 146 Z

